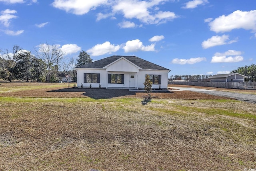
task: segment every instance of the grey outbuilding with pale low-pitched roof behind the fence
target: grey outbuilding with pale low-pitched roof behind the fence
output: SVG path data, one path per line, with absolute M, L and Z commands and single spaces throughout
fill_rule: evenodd
M 244 78 L 248 78 L 244 75 L 238 73 L 230 73 L 230 74 L 217 74 L 211 77 L 211 82 L 244 82 Z

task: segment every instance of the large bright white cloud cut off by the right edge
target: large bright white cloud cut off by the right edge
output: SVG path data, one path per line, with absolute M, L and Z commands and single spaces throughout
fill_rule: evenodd
M 218 32 L 227 32 L 232 29 L 246 29 L 256 32 L 256 10 L 252 11 L 234 11 L 228 16 L 222 15 L 209 23 L 210 30 Z

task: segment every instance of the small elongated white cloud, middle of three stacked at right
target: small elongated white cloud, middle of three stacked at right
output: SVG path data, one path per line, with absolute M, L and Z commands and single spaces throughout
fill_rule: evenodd
M 229 35 L 222 35 L 222 36 L 212 36 L 210 39 L 207 39 L 202 42 L 202 47 L 204 49 L 207 49 L 209 47 L 214 47 L 218 45 L 226 45 L 236 42 L 237 40 L 231 40 L 229 41 Z

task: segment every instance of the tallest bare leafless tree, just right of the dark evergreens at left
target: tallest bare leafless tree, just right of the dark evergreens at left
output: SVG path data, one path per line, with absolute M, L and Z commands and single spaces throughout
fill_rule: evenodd
M 58 67 L 58 63 L 63 58 L 64 53 L 57 45 L 49 45 L 47 42 L 40 44 L 38 47 L 38 49 L 34 48 L 36 56 L 46 63 L 48 70 L 47 81 L 50 81 L 51 69 L 54 64 Z

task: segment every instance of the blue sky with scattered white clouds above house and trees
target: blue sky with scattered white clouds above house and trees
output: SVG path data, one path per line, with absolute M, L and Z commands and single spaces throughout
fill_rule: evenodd
M 65 58 L 132 55 L 171 75 L 216 75 L 256 64 L 256 0 L 0 0 L 0 49 Z

